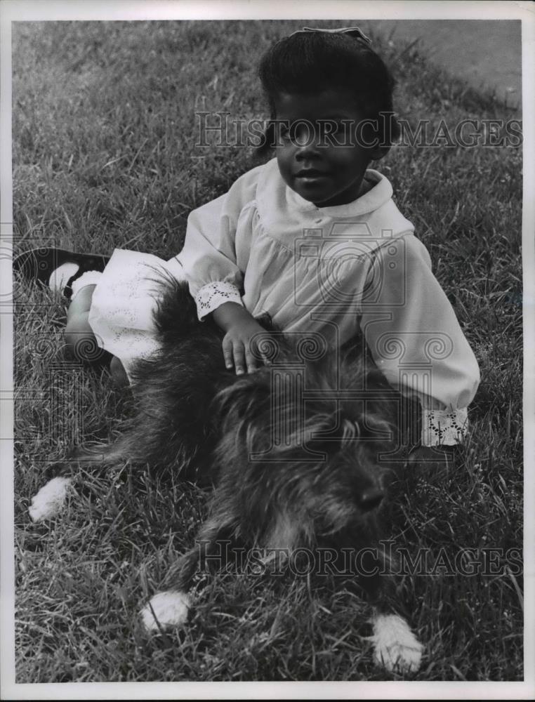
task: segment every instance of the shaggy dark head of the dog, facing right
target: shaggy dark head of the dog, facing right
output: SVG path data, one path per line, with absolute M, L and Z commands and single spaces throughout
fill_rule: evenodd
M 237 380 L 218 396 L 216 455 L 227 498 L 266 531 L 292 524 L 285 541 L 366 531 L 383 499 L 381 454 L 392 451 L 394 404 L 361 359 L 290 359 Z

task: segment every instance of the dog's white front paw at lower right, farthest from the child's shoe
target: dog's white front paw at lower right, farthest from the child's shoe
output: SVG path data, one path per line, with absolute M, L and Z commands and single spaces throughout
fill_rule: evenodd
M 416 673 L 420 668 L 423 645 L 407 622 L 397 614 L 374 617 L 374 658 L 390 672 Z

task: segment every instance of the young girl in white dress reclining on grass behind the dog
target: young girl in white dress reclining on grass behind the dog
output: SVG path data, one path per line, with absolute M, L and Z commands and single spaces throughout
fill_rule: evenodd
M 199 319 L 211 315 L 225 331 L 227 367 L 255 369 L 255 318 L 266 312 L 279 329 L 316 331 L 331 346 L 362 333 L 390 385 L 421 404 L 416 455 L 454 446 L 479 369 L 428 251 L 388 180 L 368 168 L 399 135 L 388 69 L 355 27 L 305 28 L 270 48 L 260 79 L 275 158 L 190 214 L 178 256 L 116 250 L 105 265 L 56 252 L 66 263 L 50 284 L 72 284 L 67 343 L 76 352 L 96 338 L 116 376 L 128 376 L 156 347 L 154 279 L 163 270 L 186 279 Z

